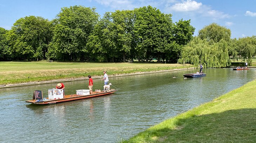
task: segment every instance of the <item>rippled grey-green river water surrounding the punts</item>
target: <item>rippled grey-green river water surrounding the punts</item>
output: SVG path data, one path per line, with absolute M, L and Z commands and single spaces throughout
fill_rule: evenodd
M 0 142 L 118 142 L 256 78 L 253 68 L 209 68 L 205 77 L 182 76 L 194 72 L 112 77 L 119 89 L 114 94 L 43 106 L 25 100 L 34 90 L 47 97 L 56 83 L 0 89 Z M 67 95 L 88 89 L 88 80 L 63 83 Z M 94 90 L 102 88 L 103 81 L 94 79 Z

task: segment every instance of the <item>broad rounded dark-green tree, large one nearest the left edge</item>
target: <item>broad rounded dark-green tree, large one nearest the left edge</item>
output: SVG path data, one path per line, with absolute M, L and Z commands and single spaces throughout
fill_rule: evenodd
M 13 59 L 45 59 L 50 42 L 49 21 L 39 16 L 17 20 L 8 32 L 8 50 Z

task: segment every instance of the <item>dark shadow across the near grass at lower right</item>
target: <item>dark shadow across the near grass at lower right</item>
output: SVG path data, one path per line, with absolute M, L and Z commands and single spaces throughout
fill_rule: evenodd
M 150 128 L 124 142 L 256 142 L 256 109 L 181 118 L 175 118 L 176 128 Z M 170 125 L 169 121 L 164 125 Z

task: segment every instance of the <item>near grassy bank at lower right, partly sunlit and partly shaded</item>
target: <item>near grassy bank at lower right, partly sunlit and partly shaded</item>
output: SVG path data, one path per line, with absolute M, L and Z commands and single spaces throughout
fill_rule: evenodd
M 256 80 L 123 143 L 256 142 Z

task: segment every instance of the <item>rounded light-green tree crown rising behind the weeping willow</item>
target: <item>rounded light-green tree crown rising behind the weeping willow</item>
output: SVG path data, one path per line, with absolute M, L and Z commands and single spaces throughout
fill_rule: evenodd
M 231 37 L 230 29 L 222 27 L 217 23 L 211 23 L 205 26 L 203 29 L 199 30 L 198 37 L 201 39 L 206 39 L 210 43 L 220 42 L 221 39 L 228 42 Z

